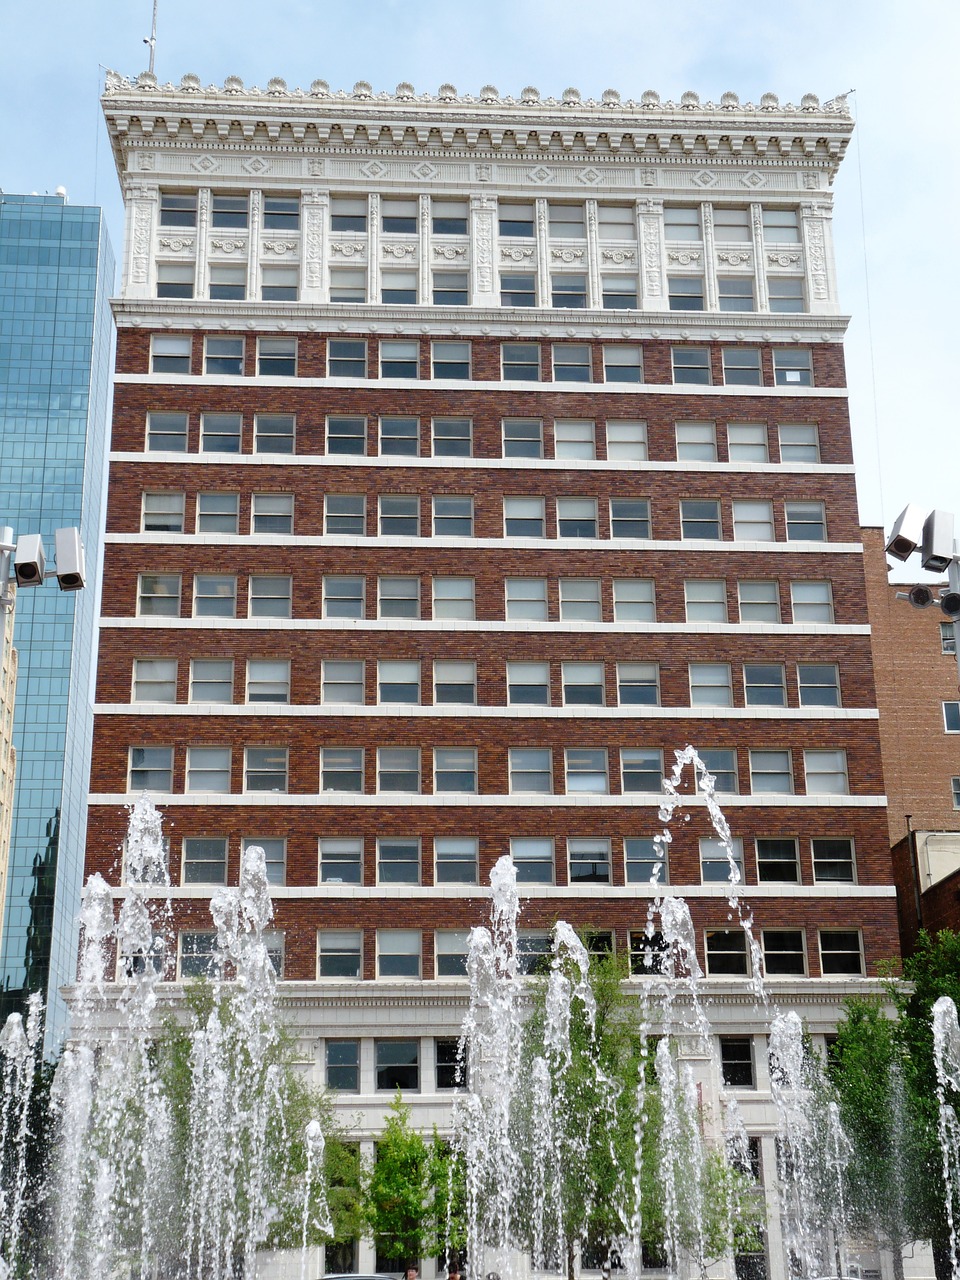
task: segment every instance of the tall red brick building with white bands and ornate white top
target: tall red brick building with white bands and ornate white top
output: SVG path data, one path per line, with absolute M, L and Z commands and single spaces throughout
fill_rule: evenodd
M 494 861 L 518 868 L 525 963 L 566 918 L 640 984 L 660 780 L 692 742 L 774 1001 L 829 1032 L 897 938 L 842 100 L 111 74 L 104 104 L 128 233 L 87 869 L 123 893 L 151 791 L 170 998 L 262 844 L 308 1069 L 365 1143 L 398 1084 L 443 1128 Z M 768 1015 L 687 791 L 666 892 L 726 1083 L 698 1070 L 772 1171 Z

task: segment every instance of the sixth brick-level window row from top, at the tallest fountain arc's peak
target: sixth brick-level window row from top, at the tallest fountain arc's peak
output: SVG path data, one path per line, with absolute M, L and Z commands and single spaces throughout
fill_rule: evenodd
M 663 785 L 663 751 L 659 748 L 631 746 L 608 751 L 603 746 L 563 749 L 562 772 L 554 778 L 554 749 L 513 746 L 507 749 L 507 774 L 497 786 L 509 795 L 634 795 L 659 794 Z M 431 758 L 433 768 L 424 768 Z M 611 760 L 612 758 L 612 760 Z M 795 790 L 794 753 L 781 748 L 749 751 L 750 792 L 753 795 L 792 795 Z M 364 795 L 394 792 L 402 795 L 476 795 L 480 790 L 477 750 L 468 746 L 323 746 L 319 753 L 319 792 Z M 611 764 L 613 763 L 613 768 Z M 244 792 L 287 792 L 289 749 L 285 746 L 243 748 Z M 808 749 L 803 751 L 803 780 L 806 795 L 849 795 L 846 751 Z M 129 791 L 170 792 L 174 781 L 174 748 L 132 746 L 129 749 Z M 425 788 L 424 783 L 428 783 Z M 562 790 L 559 790 L 559 787 Z M 735 778 L 717 774 L 717 790 L 736 794 Z M 229 795 L 233 791 L 233 749 L 229 746 L 187 746 L 184 791 Z M 485 791 L 497 795 L 497 791 Z

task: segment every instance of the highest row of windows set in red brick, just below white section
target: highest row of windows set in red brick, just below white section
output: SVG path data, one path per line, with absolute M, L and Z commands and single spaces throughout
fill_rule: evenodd
M 275 270 L 280 270 L 279 268 Z M 284 269 L 285 270 L 285 269 Z M 531 276 L 532 279 L 532 276 Z M 155 374 L 189 374 L 193 339 L 189 334 L 154 334 L 150 367 Z M 429 348 L 434 379 L 472 380 L 472 343 L 433 339 Z M 774 347 L 773 380 L 777 387 L 812 387 L 813 365 L 809 347 Z M 726 387 L 763 387 L 760 347 L 737 344 L 721 347 L 722 383 Z M 207 334 L 204 339 L 204 372 L 216 378 L 241 378 L 246 364 L 243 337 Z M 376 367 L 369 360 L 365 338 L 329 338 L 326 366 L 330 378 L 372 378 Z M 671 347 L 675 383 L 709 387 L 713 381 L 708 347 Z M 256 372 L 261 378 L 297 376 L 297 338 L 257 338 Z M 590 343 L 561 342 L 550 347 L 552 380 L 591 383 L 594 356 Z M 544 376 L 539 342 L 500 343 L 500 376 L 504 381 L 540 381 Z M 643 349 L 631 343 L 603 343 L 596 369 L 604 383 L 643 383 Z M 421 376 L 419 338 L 381 338 L 379 342 L 380 378 Z

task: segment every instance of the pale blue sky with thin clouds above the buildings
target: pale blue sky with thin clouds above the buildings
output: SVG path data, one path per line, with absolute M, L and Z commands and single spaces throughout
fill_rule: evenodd
M 0 189 L 64 186 L 74 204 L 104 205 L 118 253 L 99 93 L 104 68 L 146 69 L 151 12 L 152 0 L 0 0 Z M 687 88 L 754 102 L 854 90 L 835 239 L 860 517 L 890 529 L 908 502 L 960 521 L 957 47 L 956 0 L 159 0 L 156 73 L 375 91 L 655 88 L 675 101 Z

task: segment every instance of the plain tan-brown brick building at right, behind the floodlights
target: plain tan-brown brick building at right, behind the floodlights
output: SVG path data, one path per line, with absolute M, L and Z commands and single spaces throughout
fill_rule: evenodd
M 897 598 L 909 588 L 887 580 L 884 541 L 882 529 L 863 530 L 890 844 L 909 950 L 918 928 L 960 928 L 960 685 L 954 623 L 936 607 Z

